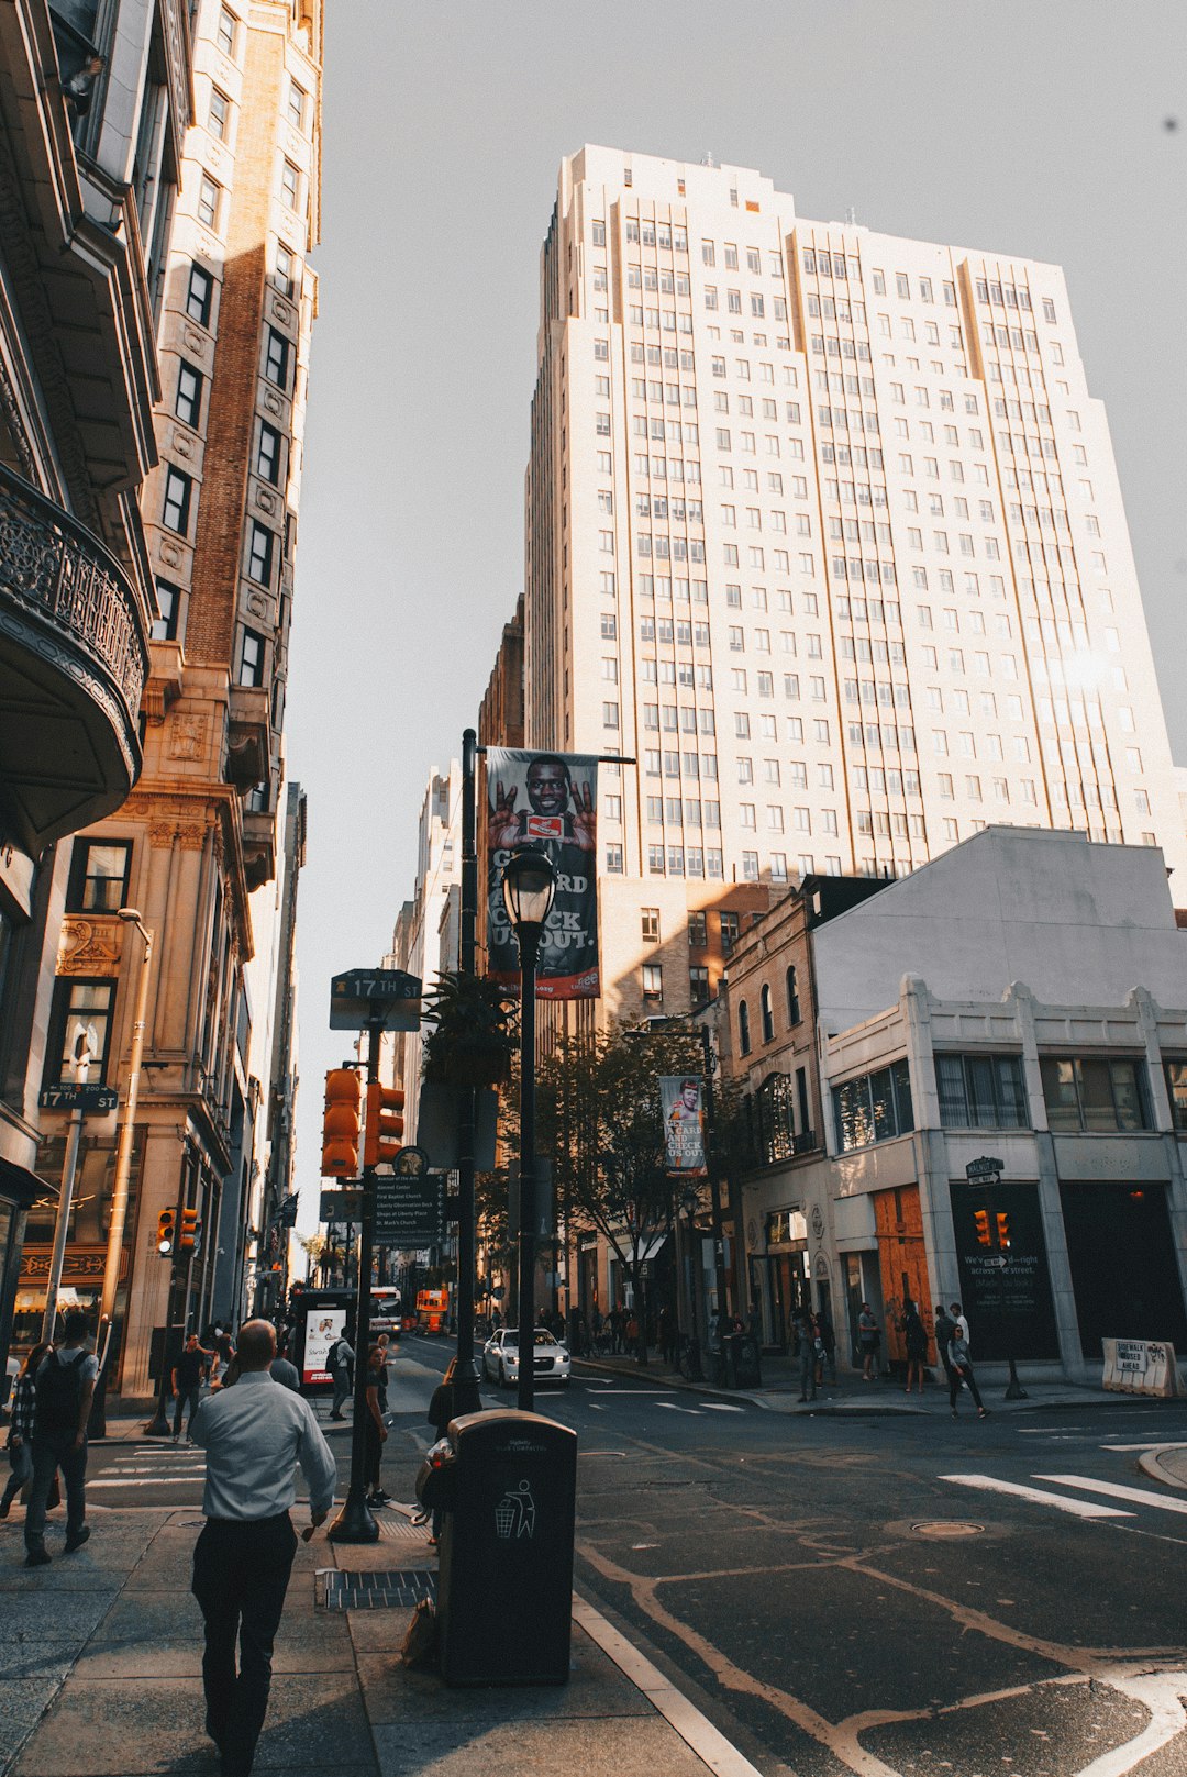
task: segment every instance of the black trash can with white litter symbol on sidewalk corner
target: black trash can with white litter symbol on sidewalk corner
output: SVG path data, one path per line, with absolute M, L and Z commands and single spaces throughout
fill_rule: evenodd
M 448 1685 L 567 1685 L 578 1434 L 538 1413 L 450 1425 L 437 1635 Z

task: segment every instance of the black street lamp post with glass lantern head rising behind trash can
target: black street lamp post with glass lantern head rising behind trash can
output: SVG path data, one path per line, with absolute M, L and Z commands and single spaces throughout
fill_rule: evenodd
M 503 867 L 503 904 L 519 944 L 519 1390 L 521 1413 L 535 1400 L 537 1267 L 537 958 L 556 894 L 556 865 L 546 851 L 514 851 Z

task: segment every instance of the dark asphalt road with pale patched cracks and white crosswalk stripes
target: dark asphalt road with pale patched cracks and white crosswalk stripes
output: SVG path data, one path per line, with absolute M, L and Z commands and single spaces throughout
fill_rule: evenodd
M 448 1356 L 391 1367 L 396 1500 Z M 764 1777 L 1187 1773 L 1187 1494 L 1137 1466 L 1182 1404 L 793 1418 L 599 1375 L 537 1407 L 579 1434 L 579 1590 Z M 94 1503 L 199 1486 L 185 1446 L 92 1454 Z

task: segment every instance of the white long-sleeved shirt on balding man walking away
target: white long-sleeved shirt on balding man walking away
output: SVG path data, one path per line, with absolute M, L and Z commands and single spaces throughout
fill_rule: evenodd
M 267 1370 L 243 1370 L 233 1388 L 201 1402 L 190 1438 L 206 1452 L 206 1518 L 279 1518 L 297 1496 L 297 1464 L 309 1510 L 329 1512 L 338 1466 L 313 1407 Z

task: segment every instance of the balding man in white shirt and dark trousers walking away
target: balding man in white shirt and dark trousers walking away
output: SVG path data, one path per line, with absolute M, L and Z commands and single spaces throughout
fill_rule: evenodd
M 224 1386 L 190 1422 L 194 1443 L 206 1450 L 206 1526 L 194 1548 L 192 1590 L 206 1619 L 206 1733 L 222 1756 L 222 1777 L 249 1777 L 268 1708 L 272 1642 L 297 1553 L 288 1516 L 297 1464 L 315 1528 L 334 1503 L 338 1478 L 313 1407 L 268 1374 L 274 1358 L 275 1329 L 249 1320 Z

